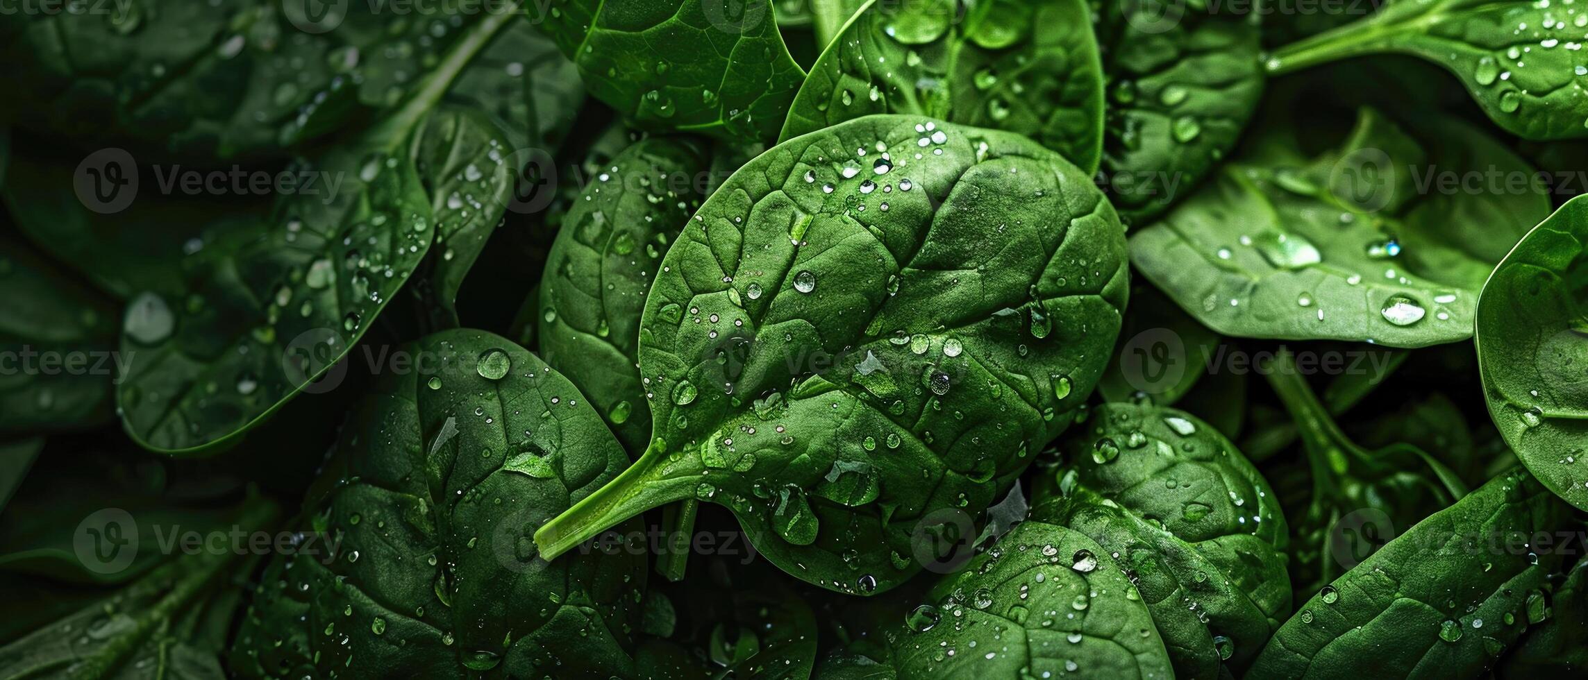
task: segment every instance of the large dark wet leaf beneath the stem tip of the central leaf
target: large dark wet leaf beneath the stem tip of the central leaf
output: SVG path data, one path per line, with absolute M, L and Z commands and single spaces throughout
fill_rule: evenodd
M 627 457 L 559 372 L 470 330 L 403 347 L 343 430 L 303 518 L 332 553 L 278 555 L 237 634 L 246 677 L 626 677 L 643 553 L 554 564 L 529 534 Z M 626 525 L 621 531 L 634 531 Z

